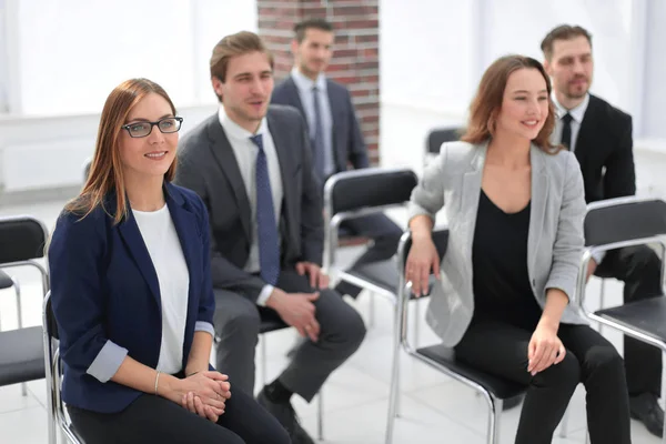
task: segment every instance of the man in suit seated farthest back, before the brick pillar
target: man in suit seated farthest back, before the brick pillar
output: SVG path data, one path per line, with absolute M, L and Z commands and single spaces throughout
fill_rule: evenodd
M 313 164 L 323 188 L 329 176 L 346 171 L 347 163 L 355 169 L 367 168 L 367 150 L 350 92 L 324 74 L 332 56 L 333 27 L 324 20 L 311 19 L 296 24 L 294 31 L 295 64 L 291 74 L 275 87 L 272 102 L 295 107 L 305 118 Z M 352 268 L 393 256 L 402 234 L 383 214 L 344 221 L 341 231 L 373 241 Z M 361 292 L 346 282 L 336 290 L 353 297 Z

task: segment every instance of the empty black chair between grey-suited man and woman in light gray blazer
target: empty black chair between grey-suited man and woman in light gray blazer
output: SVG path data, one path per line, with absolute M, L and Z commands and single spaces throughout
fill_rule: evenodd
M 324 186 L 324 271 L 395 304 L 395 268 L 392 261 L 377 261 L 337 271 L 340 225 L 345 220 L 405 206 L 417 178 L 408 169 L 370 168 L 332 175 Z M 370 322 L 374 323 L 374 297 Z

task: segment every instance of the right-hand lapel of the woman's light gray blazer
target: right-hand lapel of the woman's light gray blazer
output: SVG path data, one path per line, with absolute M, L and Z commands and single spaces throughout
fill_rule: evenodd
M 529 149 L 532 163 L 532 198 L 529 204 L 529 233 L 527 235 L 527 271 L 534 276 L 534 262 L 538 251 L 538 241 L 546 218 L 546 202 L 548 201 L 548 172 L 544 157 L 548 155 L 538 147 Z

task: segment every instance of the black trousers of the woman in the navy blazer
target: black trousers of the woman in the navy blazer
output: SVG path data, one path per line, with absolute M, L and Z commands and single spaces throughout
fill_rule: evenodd
M 68 406 L 87 444 L 289 444 L 280 423 L 242 391 L 233 391 L 218 423 L 160 396 L 143 394 L 119 413 Z

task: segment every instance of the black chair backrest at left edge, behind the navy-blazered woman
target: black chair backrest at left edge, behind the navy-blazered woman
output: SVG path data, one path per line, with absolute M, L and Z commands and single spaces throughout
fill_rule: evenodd
M 48 232 L 29 215 L 0 218 L 0 264 L 44 256 Z

